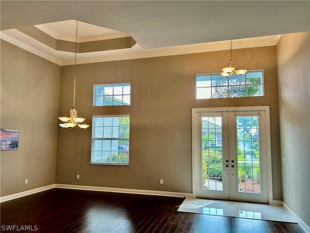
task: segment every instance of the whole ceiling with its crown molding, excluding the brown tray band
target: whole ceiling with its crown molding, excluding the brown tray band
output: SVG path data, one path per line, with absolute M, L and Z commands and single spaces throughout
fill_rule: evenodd
M 74 41 L 78 20 L 80 42 L 128 34 L 137 41 L 130 49 L 78 54 L 78 63 L 228 50 L 230 39 L 233 49 L 270 46 L 279 34 L 310 31 L 309 0 L 1 0 L 0 11 L 2 39 L 59 65 L 72 64 L 74 54 L 53 50 L 16 28 L 36 25 L 56 39 Z

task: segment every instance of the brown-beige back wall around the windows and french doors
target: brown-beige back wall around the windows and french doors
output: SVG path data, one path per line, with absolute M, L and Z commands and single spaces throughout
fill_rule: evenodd
M 220 72 L 229 50 L 78 65 L 79 116 L 91 124 L 93 115 L 130 114 L 130 166 L 89 165 L 91 127 L 59 129 L 56 183 L 191 193 L 191 109 L 269 105 L 274 200 L 282 200 L 276 47 L 233 50 L 233 58 L 237 67 L 264 70 L 264 97 L 195 99 L 195 75 Z M 64 116 L 72 107 L 73 68 L 62 67 Z M 130 106 L 93 107 L 93 84 L 122 82 L 131 83 Z

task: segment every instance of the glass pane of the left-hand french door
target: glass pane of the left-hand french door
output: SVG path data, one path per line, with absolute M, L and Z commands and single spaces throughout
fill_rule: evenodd
M 202 117 L 202 190 L 223 191 L 222 117 Z

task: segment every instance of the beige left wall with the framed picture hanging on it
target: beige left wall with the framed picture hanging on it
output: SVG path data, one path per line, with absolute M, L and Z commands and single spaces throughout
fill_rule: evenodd
M 18 150 L 1 150 L 1 197 L 55 183 L 60 75 L 60 66 L 1 40 L 0 127 L 19 129 Z

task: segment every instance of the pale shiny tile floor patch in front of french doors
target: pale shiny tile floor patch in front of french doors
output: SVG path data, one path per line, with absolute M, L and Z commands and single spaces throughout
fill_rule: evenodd
M 297 219 L 282 206 L 238 201 L 186 198 L 178 211 L 215 216 L 241 217 L 292 223 L 298 222 Z

